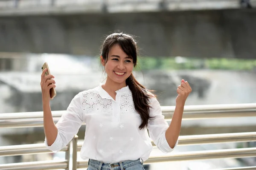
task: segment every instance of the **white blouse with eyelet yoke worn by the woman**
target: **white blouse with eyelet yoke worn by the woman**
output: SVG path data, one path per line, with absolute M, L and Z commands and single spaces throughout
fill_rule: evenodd
M 150 138 L 163 153 L 169 153 L 174 149 L 169 147 L 165 137 L 169 125 L 164 120 L 157 99 L 152 97 L 150 101 L 150 116 L 155 116 L 155 119 L 148 121 L 147 131 L 147 128 L 139 129 L 142 121 L 134 108 L 128 86 L 116 91 L 116 100 L 101 85 L 82 91 L 72 99 L 67 112 L 56 123 L 58 135 L 55 142 L 48 146 L 45 139 L 45 144 L 49 150 L 58 152 L 73 139 L 85 122 L 81 159 L 105 163 L 138 158 L 145 161 L 153 148 Z

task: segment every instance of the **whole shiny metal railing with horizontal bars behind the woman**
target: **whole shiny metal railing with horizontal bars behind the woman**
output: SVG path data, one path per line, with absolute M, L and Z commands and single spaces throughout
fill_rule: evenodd
M 166 120 L 172 118 L 175 107 L 162 107 L 163 115 Z M 55 122 L 65 111 L 53 111 L 52 115 Z M 185 106 L 183 119 L 213 119 L 227 117 L 248 117 L 256 116 L 256 104 L 239 104 L 239 105 L 196 105 Z M 18 127 L 42 127 L 43 113 L 3 113 L 0 117 L 0 128 L 18 128 Z M 253 142 L 256 141 L 256 132 L 244 133 L 224 133 L 208 135 L 180 136 L 178 145 L 195 145 L 195 144 L 213 144 L 226 142 Z M 77 161 L 77 152 L 81 150 L 82 143 L 78 142 L 78 136 L 74 136 L 72 141 L 72 169 L 86 168 L 88 161 Z M 70 168 L 70 143 L 61 151 L 66 153 L 64 161 L 35 161 L 13 164 L 0 164 L 0 170 L 47 170 L 47 169 L 66 169 Z M 156 147 L 152 142 L 153 147 Z M 51 153 L 44 144 L 23 144 L 15 146 L 0 147 L 0 156 L 16 156 L 25 154 Z M 256 147 L 239 148 L 239 149 L 221 149 L 221 150 L 204 150 L 185 153 L 177 153 L 171 156 L 151 156 L 145 164 L 153 164 L 163 161 L 188 161 L 204 159 L 221 159 L 221 158 L 245 158 L 256 157 Z M 232 170 L 253 170 L 256 167 L 239 167 Z M 221 169 L 229 170 L 229 169 Z M 230 169 L 231 170 L 231 169 Z

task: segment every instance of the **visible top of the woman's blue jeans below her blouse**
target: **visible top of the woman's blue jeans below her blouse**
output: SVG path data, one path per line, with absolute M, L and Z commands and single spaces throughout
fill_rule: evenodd
M 140 158 L 135 161 L 122 161 L 119 163 L 104 163 L 89 159 L 87 170 L 144 170 Z

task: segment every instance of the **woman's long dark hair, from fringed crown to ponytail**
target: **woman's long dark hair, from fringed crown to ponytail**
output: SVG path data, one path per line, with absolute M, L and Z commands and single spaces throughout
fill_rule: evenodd
M 134 67 L 136 67 L 138 54 L 137 42 L 134 40 L 133 36 L 129 34 L 113 33 L 111 35 L 108 35 L 102 45 L 102 59 L 107 62 L 108 52 L 110 48 L 116 44 L 118 44 L 122 48 L 125 54 L 127 54 L 129 57 L 132 57 Z M 148 125 L 148 120 L 154 118 L 149 116 L 149 111 L 151 108 L 149 99 L 151 97 L 154 97 L 155 95 L 152 93 L 152 91 L 146 89 L 143 85 L 141 85 L 135 79 L 133 74 L 131 74 L 131 76 L 128 77 L 125 82 L 131 90 L 135 110 L 140 114 L 140 117 L 142 119 L 142 123 L 139 128 L 143 129 Z

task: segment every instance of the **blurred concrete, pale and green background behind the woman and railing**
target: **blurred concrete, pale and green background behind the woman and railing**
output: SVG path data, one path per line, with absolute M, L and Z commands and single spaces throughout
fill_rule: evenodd
M 181 79 L 192 87 L 186 105 L 256 103 L 256 0 L 0 0 L 0 113 L 42 111 L 44 62 L 57 86 L 52 111 L 66 110 L 77 93 L 104 82 L 100 46 L 115 31 L 136 36 L 140 58 L 134 74 L 156 91 L 162 106 L 175 105 Z M 256 118 L 206 119 L 183 121 L 180 135 L 255 129 Z M 82 126 L 79 140 L 84 131 Z M 0 146 L 42 142 L 43 127 L 0 129 Z M 241 147 L 256 142 L 178 146 L 174 152 Z M 65 159 L 64 153 L 0 157 L 0 164 L 52 159 Z M 145 169 L 252 165 L 255 158 Z

